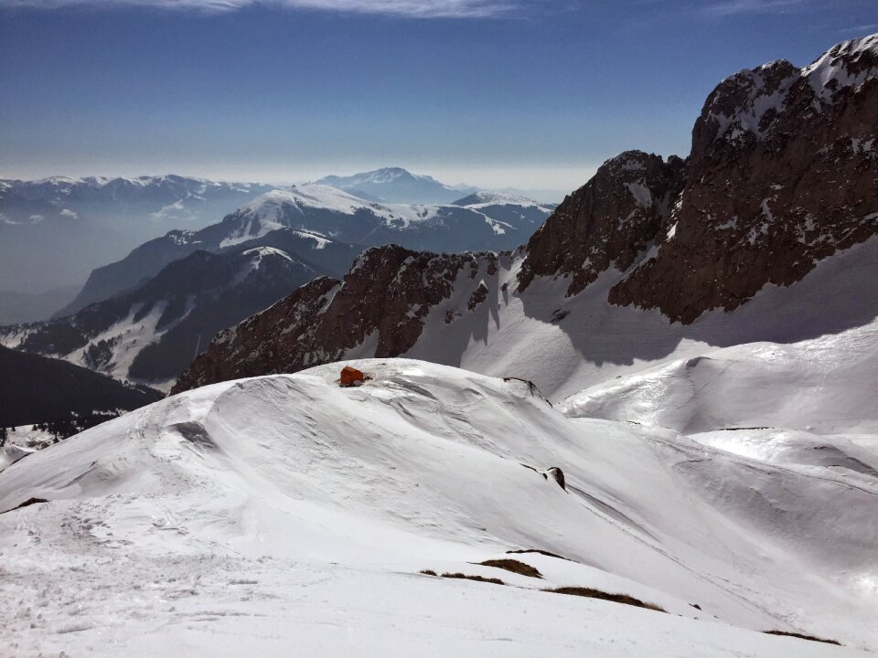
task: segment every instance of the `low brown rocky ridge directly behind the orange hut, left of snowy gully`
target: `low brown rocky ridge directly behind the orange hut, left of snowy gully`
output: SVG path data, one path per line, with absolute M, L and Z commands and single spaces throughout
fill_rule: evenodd
M 484 301 L 476 277 L 496 271 L 493 253 L 433 254 L 398 245 L 367 249 L 344 281 L 312 281 L 218 334 L 172 393 L 226 379 L 295 372 L 340 360 L 364 346 L 369 356 L 401 355 L 421 336 L 431 309 L 460 287 L 459 279 L 475 287 L 467 302 L 475 308 Z

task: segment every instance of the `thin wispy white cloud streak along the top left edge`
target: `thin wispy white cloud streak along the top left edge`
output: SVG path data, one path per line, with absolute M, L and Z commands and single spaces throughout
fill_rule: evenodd
M 411 18 L 488 18 L 507 16 L 521 0 L 0 0 L 0 7 L 58 9 L 70 6 L 112 8 L 155 7 L 209 14 L 261 5 L 346 14 L 383 14 Z

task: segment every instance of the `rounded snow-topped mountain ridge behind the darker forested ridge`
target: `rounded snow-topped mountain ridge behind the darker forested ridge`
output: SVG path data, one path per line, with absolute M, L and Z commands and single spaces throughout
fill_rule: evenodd
M 292 228 L 305 237 L 295 254 L 341 274 L 350 265 L 352 251 L 345 247 L 339 254 L 338 243 L 361 248 L 399 243 L 439 251 L 510 249 L 528 239 L 551 213 L 551 205 L 504 195 L 460 202 L 470 199 L 476 203 L 411 206 L 369 202 L 318 184 L 275 189 L 217 224 L 198 231 L 171 231 L 134 249 L 123 260 L 96 269 L 79 296 L 59 315 L 76 313 L 90 303 L 130 290 L 198 249 L 219 252 L 244 242 L 268 244 L 270 234 L 279 228 Z

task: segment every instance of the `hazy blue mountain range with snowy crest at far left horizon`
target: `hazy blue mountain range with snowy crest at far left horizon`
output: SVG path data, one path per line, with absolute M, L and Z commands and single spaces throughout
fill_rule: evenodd
M 145 240 L 207 226 L 269 189 L 178 175 L 0 180 L 0 288 L 81 284 Z

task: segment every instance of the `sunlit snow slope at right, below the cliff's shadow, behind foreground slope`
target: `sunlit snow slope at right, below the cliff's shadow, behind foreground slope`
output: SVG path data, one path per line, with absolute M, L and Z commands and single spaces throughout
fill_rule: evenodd
M 878 433 L 878 326 L 782 345 L 748 343 L 586 388 L 565 413 L 685 434 L 773 427 Z

